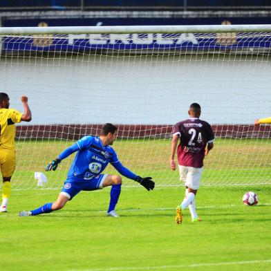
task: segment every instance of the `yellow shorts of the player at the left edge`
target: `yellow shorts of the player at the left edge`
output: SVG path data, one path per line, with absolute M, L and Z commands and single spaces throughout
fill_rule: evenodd
M 15 149 L 0 148 L 0 167 L 3 177 L 11 177 L 15 170 Z

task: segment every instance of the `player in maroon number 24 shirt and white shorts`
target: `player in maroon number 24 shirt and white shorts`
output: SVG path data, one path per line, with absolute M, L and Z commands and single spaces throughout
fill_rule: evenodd
M 214 147 L 214 133 L 208 122 L 200 120 L 200 105 L 191 104 L 189 119 L 178 122 L 174 127 L 171 142 L 170 166 L 176 169 L 174 156 L 177 149 L 180 180 L 185 181 L 185 198 L 176 209 L 176 223 L 183 221 L 183 209 L 189 207 L 192 221 L 201 221 L 196 214 L 195 196 L 200 186 L 203 159 Z M 178 140 L 180 144 L 178 145 Z M 178 148 L 177 148 L 178 145 Z

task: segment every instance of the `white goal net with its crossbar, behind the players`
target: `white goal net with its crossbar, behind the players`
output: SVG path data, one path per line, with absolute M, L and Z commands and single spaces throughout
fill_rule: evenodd
M 1 30 L 1 92 L 19 111 L 27 95 L 32 111 L 31 122 L 17 124 L 14 189 L 62 187 L 73 156 L 53 172 L 44 171 L 48 162 L 83 136 L 99 136 L 106 122 L 118 126 L 113 147 L 124 166 L 156 185 L 180 185 L 169 167 L 171 136 L 192 102 L 216 136 L 202 184 L 271 183 L 270 125 L 254 126 L 271 115 L 271 28 Z M 48 183 L 37 187 L 35 172 Z

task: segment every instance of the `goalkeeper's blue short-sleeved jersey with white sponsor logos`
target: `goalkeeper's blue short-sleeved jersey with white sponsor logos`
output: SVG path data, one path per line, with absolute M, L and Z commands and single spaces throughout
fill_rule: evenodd
M 91 180 L 101 174 L 109 162 L 112 164 L 118 162 L 118 156 L 113 148 L 104 147 L 100 138 L 85 136 L 75 144 L 78 151 L 68 171 L 68 178 Z

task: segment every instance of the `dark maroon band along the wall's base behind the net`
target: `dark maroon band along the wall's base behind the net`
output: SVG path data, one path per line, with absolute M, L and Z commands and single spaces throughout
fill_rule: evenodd
M 83 125 L 19 125 L 16 138 L 20 140 L 79 140 L 83 136 L 99 136 L 102 124 Z M 173 125 L 122 125 L 118 124 L 119 138 L 171 138 Z M 216 138 L 270 138 L 271 126 L 212 125 Z

